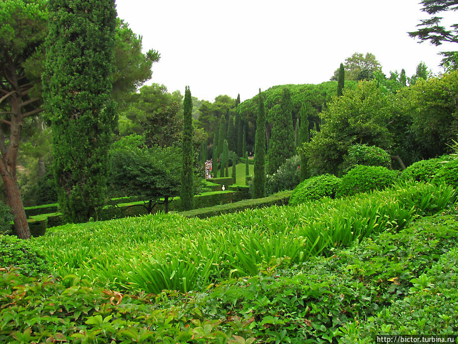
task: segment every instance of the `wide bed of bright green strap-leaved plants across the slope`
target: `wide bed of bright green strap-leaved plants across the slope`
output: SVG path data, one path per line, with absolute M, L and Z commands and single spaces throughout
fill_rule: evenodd
M 455 199 L 451 187 L 410 183 L 353 199 L 323 199 L 208 220 L 156 215 L 66 225 L 34 241 L 61 276 L 121 290 L 199 290 L 231 276 L 256 275 L 273 257 L 291 263 L 332 255 L 365 236 L 402 229 Z M 164 240 L 166 238 L 166 240 Z

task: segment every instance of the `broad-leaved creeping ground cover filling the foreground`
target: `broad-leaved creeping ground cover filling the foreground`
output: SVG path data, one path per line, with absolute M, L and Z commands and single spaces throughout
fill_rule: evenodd
M 415 313 L 388 313 L 407 312 L 427 298 L 439 302 L 422 307 L 422 319 L 441 316 L 422 334 L 453 333 L 458 329 L 450 301 L 458 296 L 456 220 L 455 205 L 329 257 L 310 257 L 291 267 L 289 259 L 272 259 L 260 264 L 256 275 L 186 294 L 125 294 L 94 286 L 90 278 L 36 279 L 3 271 L 0 304 L 7 306 L 0 308 L 0 340 L 371 342 L 364 332 L 371 323 L 377 333 L 390 331 L 385 324 L 399 333 L 418 328 Z

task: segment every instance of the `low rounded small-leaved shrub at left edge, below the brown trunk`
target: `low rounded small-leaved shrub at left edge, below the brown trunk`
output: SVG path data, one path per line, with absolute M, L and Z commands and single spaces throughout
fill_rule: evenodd
M 0 268 L 15 267 L 24 274 L 48 272 L 46 259 L 30 240 L 0 234 Z

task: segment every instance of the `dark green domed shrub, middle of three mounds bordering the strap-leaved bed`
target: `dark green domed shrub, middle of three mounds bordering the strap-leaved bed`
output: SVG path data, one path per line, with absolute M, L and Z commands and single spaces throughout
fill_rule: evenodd
M 344 177 L 336 192 L 336 197 L 353 196 L 361 192 L 382 190 L 394 184 L 399 172 L 382 166 L 359 165 Z

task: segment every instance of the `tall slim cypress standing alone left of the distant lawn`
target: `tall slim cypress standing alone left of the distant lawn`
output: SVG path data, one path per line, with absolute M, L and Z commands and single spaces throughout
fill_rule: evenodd
M 183 169 L 181 174 L 181 208 L 191 210 L 194 207 L 194 154 L 192 152 L 192 99 L 189 86 L 186 86 L 183 101 Z

